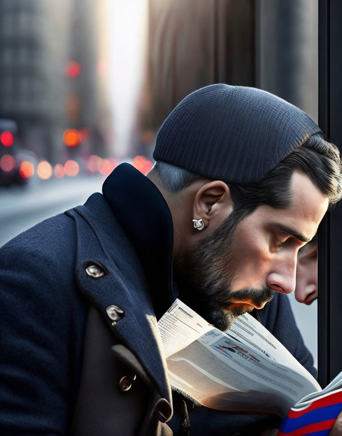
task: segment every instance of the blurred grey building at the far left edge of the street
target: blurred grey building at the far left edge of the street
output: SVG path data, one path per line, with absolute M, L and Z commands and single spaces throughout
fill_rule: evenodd
M 50 161 L 65 124 L 64 66 L 69 2 L 0 2 L 0 114 L 19 126 L 23 147 Z

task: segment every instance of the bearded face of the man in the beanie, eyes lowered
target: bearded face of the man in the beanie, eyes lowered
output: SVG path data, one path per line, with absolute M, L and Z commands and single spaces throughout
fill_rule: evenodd
M 290 187 L 289 207 L 258 206 L 237 225 L 233 210 L 175 259 L 180 298 L 214 326 L 226 330 L 240 314 L 261 309 L 274 291 L 294 290 L 298 250 L 316 234 L 328 200 L 302 173 L 293 173 Z

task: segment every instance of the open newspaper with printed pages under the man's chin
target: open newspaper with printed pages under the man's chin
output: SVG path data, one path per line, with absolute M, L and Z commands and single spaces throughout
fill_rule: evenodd
M 311 374 L 248 313 L 223 333 L 177 299 L 158 326 L 171 386 L 206 407 L 284 417 L 291 408 L 303 409 L 342 388 L 340 374 L 322 391 Z

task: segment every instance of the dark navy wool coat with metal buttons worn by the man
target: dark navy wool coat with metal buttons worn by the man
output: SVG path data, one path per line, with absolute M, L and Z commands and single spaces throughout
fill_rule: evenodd
M 86 273 L 93 264 L 103 276 Z M 286 296 L 260 319 L 314 371 Z M 0 435 L 183 434 L 176 397 L 164 423 L 171 389 L 144 270 L 102 194 L 0 249 L 0 322 Z M 258 421 L 189 415 L 191 435 L 251 434 Z

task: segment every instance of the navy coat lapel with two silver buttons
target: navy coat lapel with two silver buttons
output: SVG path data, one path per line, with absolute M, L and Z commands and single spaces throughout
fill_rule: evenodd
M 163 346 L 137 254 L 101 194 L 93 194 L 84 206 L 67 214 L 76 223 L 75 272 L 81 290 L 113 334 L 136 355 L 160 396 L 171 403 Z M 94 278 L 85 272 L 91 260 L 103 266 L 105 275 Z M 115 325 L 106 311 L 112 305 L 124 311 Z

